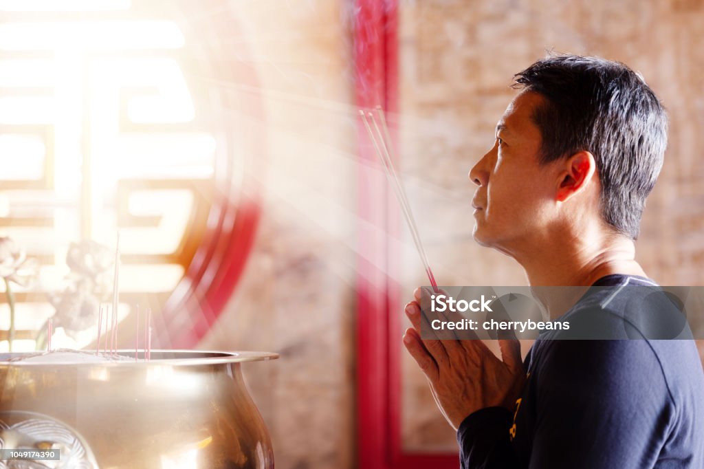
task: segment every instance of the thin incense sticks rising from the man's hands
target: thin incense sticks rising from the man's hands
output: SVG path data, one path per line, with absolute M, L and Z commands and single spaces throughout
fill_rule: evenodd
M 439 290 L 435 282 L 435 277 L 433 276 L 432 270 L 430 270 L 430 264 L 428 263 L 428 258 L 425 256 L 423 244 L 420 242 L 420 235 L 418 235 L 418 228 L 415 224 L 415 219 L 413 218 L 413 212 L 410 211 L 410 204 L 408 204 L 406 191 L 403 189 L 403 185 L 401 185 L 401 180 L 398 179 L 396 168 L 394 168 L 394 158 L 396 156 L 393 153 L 391 134 L 389 133 L 389 127 L 386 125 L 384 111 L 382 111 L 381 106 L 377 106 L 376 111 L 379 117 L 379 122 L 381 123 L 381 129 L 379 129 L 379 124 L 377 123 L 377 119 L 375 119 L 374 113 L 371 111 L 365 112 L 363 110 L 360 110 L 359 113 L 362 116 L 364 126 L 367 128 L 369 138 L 377 151 L 377 156 L 379 156 L 379 160 L 382 161 L 384 171 L 386 171 L 386 177 L 389 178 L 389 183 L 391 184 L 391 189 L 394 189 L 394 194 L 396 194 L 398 204 L 401 205 L 403 218 L 406 218 L 406 224 L 410 230 L 411 237 L 413 237 L 415 249 L 418 251 L 420 261 L 422 261 L 423 266 L 425 267 L 425 273 L 428 275 L 428 279 L 430 280 L 430 284 L 432 285 L 434 292 L 438 293 Z

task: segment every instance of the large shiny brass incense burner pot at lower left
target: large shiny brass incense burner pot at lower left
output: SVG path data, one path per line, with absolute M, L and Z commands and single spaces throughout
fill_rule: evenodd
M 241 363 L 275 354 L 152 351 L 148 362 L 7 361 L 18 356 L 0 355 L 0 443 L 61 449 L 60 461 L 23 468 L 274 467 Z

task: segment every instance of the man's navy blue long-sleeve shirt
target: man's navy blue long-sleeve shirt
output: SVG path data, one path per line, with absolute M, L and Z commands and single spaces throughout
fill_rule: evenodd
M 626 282 L 652 284 L 610 275 L 595 286 Z M 696 346 L 629 340 L 639 331 L 634 308 L 642 315 L 644 307 L 662 306 L 634 298 L 642 292 L 590 289 L 560 318 L 598 315 L 601 334 L 615 331 L 608 340 L 541 334 L 524 362 L 527 382 L 515 412 L 484 408 L 460 425 L 462 468 L 704 468 L 704 373 Z

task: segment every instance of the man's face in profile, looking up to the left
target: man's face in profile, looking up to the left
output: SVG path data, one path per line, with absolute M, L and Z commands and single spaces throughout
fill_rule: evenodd
M 556 165 L 541 165 L 541 132 L 533 121 L 544 98 L 521 92 L 496 125 L 494 146 L 470 171 L 474 239 L 511 254 L 545 232 L 554 215 Z

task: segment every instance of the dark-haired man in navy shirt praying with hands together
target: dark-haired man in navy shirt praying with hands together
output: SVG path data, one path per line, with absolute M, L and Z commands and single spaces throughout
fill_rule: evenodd
M 655 285 L 634 240 L 667 145 L 660 101 L 625 65 L 581 56 L 538 61 L 515 87 L 494 146 L 470 171 L 474 239 L 522 265 L 552 320 L 623 325 L 641 313 L 634 304 L 656 308 L 624 286 Z M 618 288 L 536 288 L 570 285 Z M 479 340 L 422 339 L 427 295 L 417 289 L 406 305 L 403 342 L 458 430 L 463 468 L 704 468 L 693 341 L 541 334 L 524 363 L 515 338 L 500 340 L 499 360 Z

